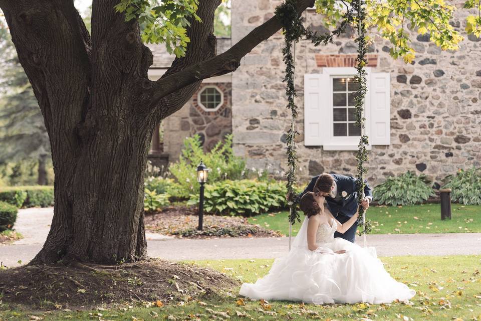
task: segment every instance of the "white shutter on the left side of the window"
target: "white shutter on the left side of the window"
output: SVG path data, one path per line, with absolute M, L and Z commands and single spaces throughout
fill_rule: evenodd
M 325 123 L 325 84 L 323 74 L 304 75 L 304 145 L 321 146 Z M 324 89 L 324 90 L 323 90 Z

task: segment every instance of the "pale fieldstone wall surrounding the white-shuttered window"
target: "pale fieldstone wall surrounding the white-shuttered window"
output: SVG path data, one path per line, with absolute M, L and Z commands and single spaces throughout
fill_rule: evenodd
M 232 2 L 232 43 L 272 17 L 281 1 L 245 0 Z M 462 8 L 462 1 L 456 1 Z M 481 42 L 464 33 L 466 10 L 457 12 L 451 24 L 465 36 L 456 52 L 441 52 L 429 43 L 429 35 L 415 36 L 416 59 L 412 64 L 393 60 L 388 41 L 371 33 L 373 72 L 391 74 L 391 145 L 372 146 L 368 178 L 378 184 L 386 177 L 406 171 L 426 174 L 440 183 L 458 168 L 481 163 Z M 315 12 L 304 13 L 305 25 L 320 32 Z M 303 143 L 303 77 L 322 72 L 322 55 L 350 55 L 356 52 L 354 32 L 334 44 L 314 47 L 307 42 L 296 46 L 296 88 L 300 114 L 297 139 L 300 176 L 322 172 L 356 174 L 355 152 L 327 151 Z M 277 33 L 256 47 L 232 74 L 232 131 L 234 149 L 248 158 L 250 167 L 282 174 L 286 171 L 285 139 L 290 113 L 286 109 L 282 82 L 283 37 Z M 319 56 L 321 55 L 321 56 Z M 317 56 L 317 59 L 316 59 Z M 343 59 L 340 59 L 344 61 Z M 371 61 L 372 63 L 372 58 Z M 334 63 L 335 64 L 335 63 Z

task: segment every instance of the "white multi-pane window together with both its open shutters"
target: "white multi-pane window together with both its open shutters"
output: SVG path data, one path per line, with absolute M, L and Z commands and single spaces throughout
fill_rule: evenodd
M 325 150 L 356 150 L 361 131 L 354 97 L 358 84 L 355 68 L 323 68 L 322 74 L 304 75 L 304 144 Z M 389 73 L 366 68 L 365 133 L 370 145 L 390 144 Z M 370 148 L 370 146 L 369 146 Z

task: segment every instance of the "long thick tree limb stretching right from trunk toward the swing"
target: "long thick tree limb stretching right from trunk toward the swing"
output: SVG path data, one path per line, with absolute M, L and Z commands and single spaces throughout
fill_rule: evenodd
M 299 0 L 297 11 L 300 15 L 306 8 L 312 6 L 314 6 L 314 0 Z M 277 16 L 274 16 L 254 29 L 226 52 L 157 80 L 156 87 L 158 87 L 158 90 L 153 95 L 149 108 L 156 108 L 163 97 L 180 88 L 202 79 L 224 75 L 236 70 L 240 66 L 240 59 L 281 28 L 281 22 Z

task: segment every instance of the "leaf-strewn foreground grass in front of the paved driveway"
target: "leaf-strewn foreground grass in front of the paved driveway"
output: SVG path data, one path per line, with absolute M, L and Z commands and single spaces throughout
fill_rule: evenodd
M 153 307 L 147 302 L 135 306 L 120 304 L 96 310 L 29 311 L 0 305 L 0 320 L 480 320 L 481 255 L 404 256 L 381 258 L 399 281 L 416 290 L 408 302 L 392 304 L 323 305 L 287 301 L 263 302 L 240 299 L 238 287 L 218 299 L 192 301 L 185 297 L 176 304 Z M 210 260 L 194 264 L 208 266 L 243 281 L 264 276 L 273 260 Z M 75 299 L 75 298 L 73 298 Z M 1 302 L 1 301 L 0 301 Z M 118 303 L 118 302 L 113 302 Z M 148 305 L 148 306 L 147 306 Z

